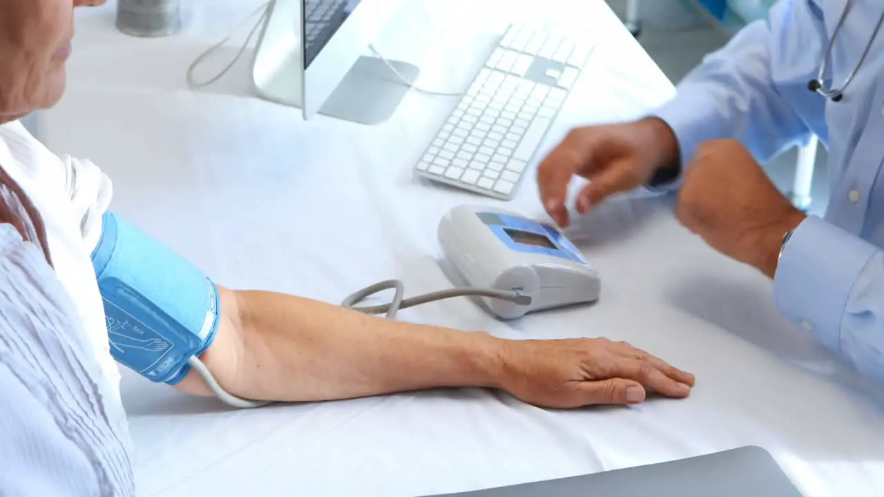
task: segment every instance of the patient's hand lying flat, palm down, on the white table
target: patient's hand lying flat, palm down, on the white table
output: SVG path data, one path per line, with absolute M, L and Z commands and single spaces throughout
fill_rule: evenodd
M 626 342 L 506 340 L 500 389 L 539 407 L 638 404 L 647 392 L 683 398 L 694 376 Z

